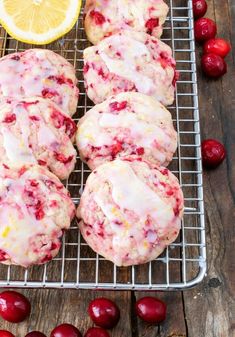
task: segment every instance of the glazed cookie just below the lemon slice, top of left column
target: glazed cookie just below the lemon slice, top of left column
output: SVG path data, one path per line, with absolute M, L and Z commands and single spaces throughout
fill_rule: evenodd
M 74 67 L 46 49 L 28 49 L 0 59 L 0 95 L 41 96 L 69 115 L 76 112 L 79 90 Z

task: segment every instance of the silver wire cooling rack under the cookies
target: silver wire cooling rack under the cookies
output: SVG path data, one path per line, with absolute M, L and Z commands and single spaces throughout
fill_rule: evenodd
M 74 222 L 63 237 L 60 254 L 53 261 L 28 270 L 1 265 L 0 286 L 173 290 L 191 287 L 203 279 L 206 248 L 192 0 L 169 0 L 168 4 L 170 11 L 162 40 L 172 47 L 181 74 L 175 103 L 169 108 L 179 141 L 170 169 L 179 178 L 186 207 L 180 236 L 156 260 L 118 268 L 88 247 Z M 92 107 L 82 76 L 82 54 L 87 46 L 81 15 L 69 34 L 43 47 L 61 54 L 76 68 L 81 94 L 75 120 Z M 12 39 L 0 27 L 0 56 L 33 47 Z M 66 182 L 76 205 L 89 173 L 78 157 L 76 168 Z

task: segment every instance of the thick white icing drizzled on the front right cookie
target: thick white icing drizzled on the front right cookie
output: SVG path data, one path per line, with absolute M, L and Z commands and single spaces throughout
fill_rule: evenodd
M 174 212 L 171 205 L 141 181 L 128 162 L 115 160 L 105 165 L 102 167 L 102 175 L 111 184 L 113 201 L 121 212 L 130 210 L 142 221 L 151 214 L 156 223 L 160 223 L 162 227 L 166 227 L 172 221 Z M 116 217 L 111 206 L 102 200 L 101 194 L 95 196 L 95 201 L 109 221 L 115 221 Z

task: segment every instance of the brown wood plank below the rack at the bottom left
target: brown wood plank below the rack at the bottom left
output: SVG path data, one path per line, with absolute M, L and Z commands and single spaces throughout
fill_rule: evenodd
M 118 326 L 112 331 L 112 337 L 131 336 L 131 293 L 77 290 L 21 290 L 32 305 L 30 318 L 21 324 L 10 324 L 0 319 L 0 328 L 7 329 L 17 337 L 27 332 L 39 330 L 50 336 L 58 324 L 71 323 L 84 334 L 93 324 L 87 314 L 89 302 L 105 296 L 114 300 L 121 310 Z

